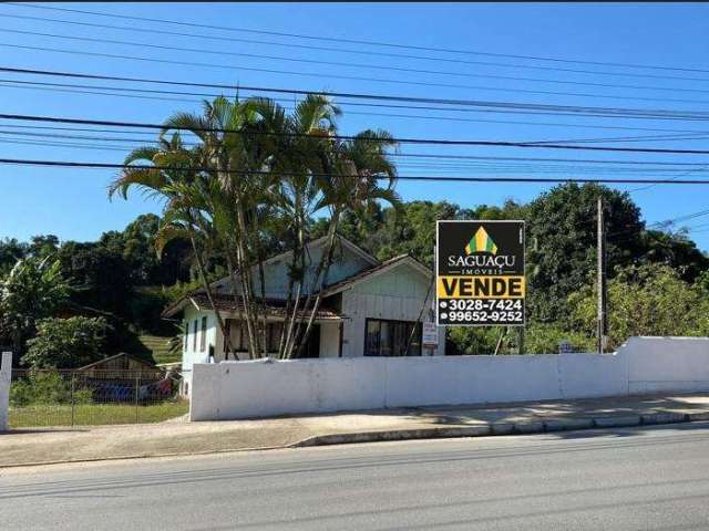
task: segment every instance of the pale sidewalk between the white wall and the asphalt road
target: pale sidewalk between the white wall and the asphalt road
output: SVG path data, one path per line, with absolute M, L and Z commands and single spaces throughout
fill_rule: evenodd
M 709 420 L 709 393 L 0 434 L 0 467 Z

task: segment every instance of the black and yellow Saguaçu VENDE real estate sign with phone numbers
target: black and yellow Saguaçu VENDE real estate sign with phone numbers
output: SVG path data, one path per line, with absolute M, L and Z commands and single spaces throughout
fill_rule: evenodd
M 524 326 L 524 221 L 439 221 L 439 326 Z

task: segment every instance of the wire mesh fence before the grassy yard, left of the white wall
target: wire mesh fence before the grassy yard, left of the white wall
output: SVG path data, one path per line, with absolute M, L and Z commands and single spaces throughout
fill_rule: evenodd
M 176 377 L 143 371 L 14 369 L 10 428 L 157 423 L 187 413 Z

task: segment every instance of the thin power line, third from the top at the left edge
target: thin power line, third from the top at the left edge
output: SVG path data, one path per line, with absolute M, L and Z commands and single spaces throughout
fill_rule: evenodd
M 0 14 L 0 17 L 3 17 Z M 97 39 L 90 37 L 78 37 L 78 35 L 63 35 L 58 33 L 44 33 L 37 31 L 27 31 L 27 30 L 13 30 L 8 28 L 0 28 L 0 32 L 6 33 L 17 33 L 22 35 L 34 35 L 34 37 L 50 37 L 52 39 L 64 39 L 72 41 L 83 41 L 83 42 L 99 42 L 102 44 L 120 44 L 126 46 L 137 46 L 137 48 L 151 48 L 155 50 L 168 50 L 175 52 L 191 52 L 191 53 L 207 53 L 214 55 L 233 55 L 239 58 L 254 58 L 254 59 L 267 59 L 275 61 L 288 61 L 288 62 L 297 62 L 297 63 L 309 63 L 309 64 L 323 64 L 331 66 L 347 66 L 347 67 L 357 67 L 357 69 L 373 69 L 373 70 L 383 70 L 389 72 L 410 72 L 418 74 L 435 74 L 435 75 L 451 75 L 458 77 L 470 77 L 470 79 L 493 79 L 493 80 L 506 80 L 506 81 L 530 81 L 535 83 L 553 83 L 553 84 L 564 84 L 564 85 L 580 85 L 580 86 L 599 86 L 606 88 L 631 88 L 631 90 L 644 90 L 644 91 L 661 91 L 661 92 L 690 92 L 690 93 L 700 93 L 700 94 L 709 94 L 709 90 L 702 88 L 685 88 L 678 86 L 643 86 L 643 85 L 619 85 L 614 83 L 594 83 L 594 82 L 585 82 L 585 81 L 572 81 L 572 80 L 548 80 L 548 79 L 540 79 L 540 77 L 520 77 L 520 76 L 510 76 L 510 75 L 495 75 L 495 74 L 481 74 L 481 73 L 469 73 L 469 72 L 451 72 L 443 70 L 427 70 L 427 69 L 410 69 L 403 66 L 392 66 L 392 65 L 379 65 L 379 64 L 370 64 L 370 63 L 351 63 L 351 62 L 342 62 L 342 61 L 322 61 L 322 60 L 314 60 L 314 59 L 302 59 L 302 58 L 292 58 L 292 56 L 282 56 L 282 55 L 265 55 L 258 53 L 245 53 L 245 52 L 233 52 L 226 50 L 210 50 L 204 48 L 183 48 L 183 46 L 169 46 L 164 44 L 151 44 L 145 42 L 135 42 L 135 41 L 120 41 L 114 39 Z M 706 80 L 709 81 L 709 80 Z M 455 85 L 458 86 L 458 85 Z M 562 93 L 564 94 L 564 93 Z M 616 97 L 616 96 L 598 96 L 598 97 Z M 623 96 L 619 96 L 623 97 Z M 672 101 L 665 98 L 656 98 L 657 101 Z M 709 103 L 706 101 L 695 102 L 695 101 L 685 101 L 678 100 L 680 102 L 689 102 L 689 103 Z

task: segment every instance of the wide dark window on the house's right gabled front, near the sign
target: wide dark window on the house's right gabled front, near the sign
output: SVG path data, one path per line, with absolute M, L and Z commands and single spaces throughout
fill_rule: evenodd
M 409 340 L 411 340 L 410 344 Z M 409 344 L 409 351 L 404 352 L 407 344 Z M 364 331 L 364 355 L 420 356 L 421 323 L 368 319 Z

